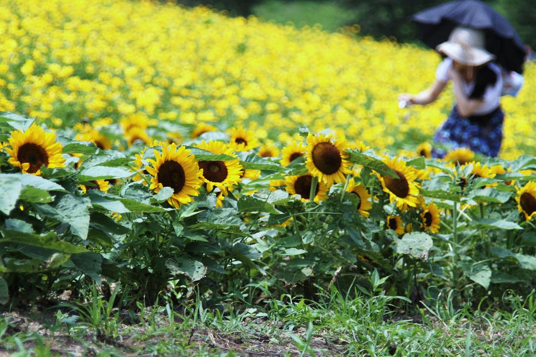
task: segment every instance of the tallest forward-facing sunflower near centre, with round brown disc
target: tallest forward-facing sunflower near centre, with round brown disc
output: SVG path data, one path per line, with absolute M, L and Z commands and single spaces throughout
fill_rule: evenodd
M 333 182 L 346 181 L 346 174 L 351 172 L 353 164 L 345 153 L 347 142 L 344 136 L 331 142 L 331 134 L 307 135 L 308 152 L 306 166 L 313 176 L 318 177 L 328 187 Z

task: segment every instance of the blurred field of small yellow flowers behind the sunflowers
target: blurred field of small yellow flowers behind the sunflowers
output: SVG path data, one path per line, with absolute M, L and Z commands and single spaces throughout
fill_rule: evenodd
M 148 126 L 236 123 L 282 144 L 305 125 L 374 149 L 414 150 L 445 119 L 451 90 L 409 110 L 397 95 L 426 88 L 440 56 L 354 33 L 151 2 L 13 0 L 0 6 L 0 110 L 51 127 L 132 116 Z M 534 71 L 527 66 L 518 98 L 503 98 L 503 158 L 536 154 Z

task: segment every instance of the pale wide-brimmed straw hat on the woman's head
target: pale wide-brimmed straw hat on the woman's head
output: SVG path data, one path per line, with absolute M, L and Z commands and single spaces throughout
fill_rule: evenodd
M 449 41 L 438 44 L 436 50 L 458 63 L 467 66 L 480 66 L 495 58 L 484 48 L 485 43 L 482 31 L 456 27 L 450 33 Z

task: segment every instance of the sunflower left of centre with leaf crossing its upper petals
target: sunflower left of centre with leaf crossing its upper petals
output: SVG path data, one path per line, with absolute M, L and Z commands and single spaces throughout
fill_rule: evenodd
M 214 154 L 226 154 L 236 157 L 233 149 L 229 148 L 224 142 L 211 140 L 205 142 L 203 140 L 196 147 L 210 151 Z M 224 191 L 227 187 L 236 185 L 240 181 L 242 175 L 242 165 L 240 165 L 240 159 L 236 160 L 213 160 L 213 161 L 199 161 L 199 169 L 203 169 L 203 179 L 206 183 L 206 189 L 209 192 L 215 187 L 218 187 L 221 191 Z

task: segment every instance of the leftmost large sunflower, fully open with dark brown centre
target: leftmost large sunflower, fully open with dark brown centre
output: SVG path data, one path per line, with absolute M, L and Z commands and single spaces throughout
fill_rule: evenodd
M 32 123 L 26 131 L 17 130 L 8 139 L 10 148 L 5 148 L 11 157 L 8 162 L 22 172 L 41 174 L 41 166 L 64 168 L 62 145 L 56 141 L 55 133 L 46 133 L 39 125 Z

